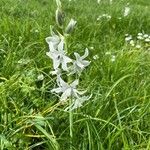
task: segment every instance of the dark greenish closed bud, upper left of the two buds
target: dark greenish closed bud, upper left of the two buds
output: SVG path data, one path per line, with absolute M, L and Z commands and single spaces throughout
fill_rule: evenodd
M 64 14 L 59 8 L 56 10 L 56 23 L 59 27 L 61 27 L 64 23 Z

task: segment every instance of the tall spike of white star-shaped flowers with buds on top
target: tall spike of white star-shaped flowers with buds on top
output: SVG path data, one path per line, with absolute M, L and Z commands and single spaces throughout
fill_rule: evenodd
M 61 14 L 61 3 L 57 0 L 56 10 L 56 23 L 62 29 L 63 19 Z M 66 110 L 73 110 L 82 106 L 84 101 L 87 101 L 90 97 L 83 96 L 85 91 L 79 91 L 77 86 L 79 84 L 79 77 L 82 71 L 90 64 L 90 61 L 85 60 L 89 55 L 89 51 L 86 48 L 83 56 L 80 56 L 77 52 L 74 52 L 74 59 L 68 56 L 66 50 L 66 35 L 70 34 L 76 25 L 76 21 L 71 19 L 67 27 L 64 30 L 64 34 L 57 34 L 51 31 L 51 36 L 46 38 L 46 42 L 49 46 L 49 52 L 46 55 L 52 59 L 53 71 L 52 75 L 56 75 L 57 87 L 52 89 L 51 92 L 55 92 L 60 95 L 60 101 L 71 101 L 71 105 Z M 63 77 L 68 78 L 66 82 Z M 78 78 L 77 78 L 78 77 Z

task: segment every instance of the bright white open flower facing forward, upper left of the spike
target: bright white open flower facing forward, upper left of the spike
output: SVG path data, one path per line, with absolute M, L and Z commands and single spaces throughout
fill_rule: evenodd
M 67 63 L 72 62 L 72 60 L 65 55 L 63 50 L 63 41 L 58 45 L 58 51 L 54 49 L 53 43 L 49 43 L 50 51 L 46 53 L 53 60 L 53 68 L 56 70 L 60 64 L 62 69 L 68 71 Z

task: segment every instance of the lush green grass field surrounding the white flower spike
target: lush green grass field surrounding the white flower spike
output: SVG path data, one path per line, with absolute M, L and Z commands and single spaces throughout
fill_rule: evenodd
M 0 149 L 150 150 L 150 42 L 137 40 L 138 33 L 150 39 L 150 1 L 62 0 L 62 6 L 66 22 L 77 21 L 69 54 L 89 49 L 79 86 L 92 97 L 72 111 L 70 138 L 68 104 L 51 93 L 56 78 L 46 56 L 55 0 L 0 0 Z

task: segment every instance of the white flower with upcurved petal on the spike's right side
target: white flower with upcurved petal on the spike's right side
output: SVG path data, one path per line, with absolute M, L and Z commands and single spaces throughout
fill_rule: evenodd
M 89 51 L 86 48 L 83 56 L 80 56 L 78 53 L 74 53 L 76 60 L 73 62 L 73 66 L 71 67 L 70 74 L 81 73 L 82 70 L 90 64 L 90 61 L 84 60 L 88 55 Z

